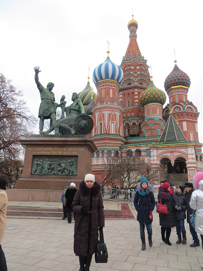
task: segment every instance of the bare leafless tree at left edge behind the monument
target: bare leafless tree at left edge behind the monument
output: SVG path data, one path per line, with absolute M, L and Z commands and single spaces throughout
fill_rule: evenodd
M 22 159 L 20 139 L 32 133 L 37 119 L 29 113 L 21 91 L 0 73 L 0 174 L 12 174 L 15 161 Z M 18 166 L 17 166 L 18 167 Z

